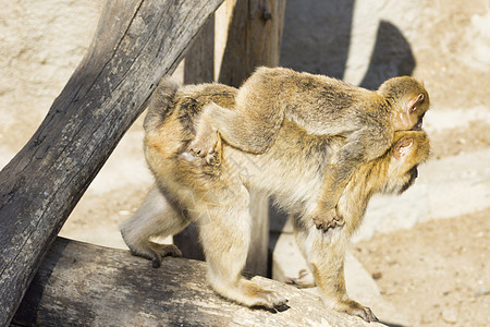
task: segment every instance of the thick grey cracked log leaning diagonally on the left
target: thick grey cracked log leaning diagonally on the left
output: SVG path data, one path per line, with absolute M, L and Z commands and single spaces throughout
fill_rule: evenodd
M 10 322 L 56 234 L 155 85 L 174 70 L 220 2 L 107 2 L 82 63 L 0 172 L 0 326 Z

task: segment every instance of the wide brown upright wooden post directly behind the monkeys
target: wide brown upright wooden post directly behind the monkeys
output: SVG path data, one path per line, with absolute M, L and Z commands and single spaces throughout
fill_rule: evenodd
M 222 28 L 223 58 L 219 82 L 238 87 L 259 65 L 279 64 L 285 0 L 226 0 L 217 11 Z M 224 37 L 225 36 L 225 37 Z M 245 269 L 267 276 L 269 202 L 250 192 L 252 242 Z

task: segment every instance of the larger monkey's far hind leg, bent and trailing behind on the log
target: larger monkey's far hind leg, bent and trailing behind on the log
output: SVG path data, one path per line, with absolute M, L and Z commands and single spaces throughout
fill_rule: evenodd
M 182 256 L 182 253 L 173 244 L 159 244 L 150 239 L 173 235 L 188 223 L 189 220 L 177 213 L 155 186 L 133 217 L 121 223 L 121 235 L 133 255 L 150 259 L 158 268 L 162 257 Z

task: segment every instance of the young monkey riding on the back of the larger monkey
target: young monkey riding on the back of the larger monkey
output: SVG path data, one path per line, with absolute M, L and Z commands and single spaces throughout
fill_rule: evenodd
M 315 135 L 346 137 L 332 156 L 317 209 L 317 228 L 342 225 L 335 205 L 354 170 L 384 154 L 395 131 L 419 130 L 429 109 L 424 85 L 408 76 L 368 90 L 323 75 L 284 68 L 259 68 L 238 89 L 234 110 L 209 104 L 203 111 L 188 153 L 204 157 L 217 133 L 230 145 L 255 154 L 267 152 L 284 119 Z

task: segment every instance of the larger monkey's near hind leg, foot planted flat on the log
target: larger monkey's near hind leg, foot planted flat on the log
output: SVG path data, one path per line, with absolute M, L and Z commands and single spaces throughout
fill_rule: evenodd
M 209 283 L 222 296 L 246 306 L 285 311 L 286 299 L 241 275 L 250 242 L 248 192 L 243 190 L 232 197 L 228 205 L 221 202 L 210 208 L 207 223 L 199 226 Z

